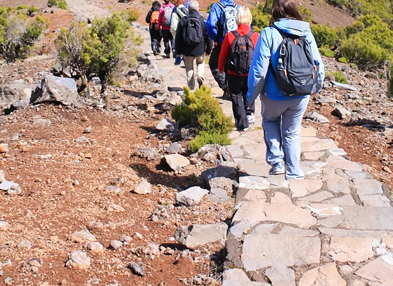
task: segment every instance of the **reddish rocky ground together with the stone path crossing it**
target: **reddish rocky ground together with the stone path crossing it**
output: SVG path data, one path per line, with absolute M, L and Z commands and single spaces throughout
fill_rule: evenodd
M 66 22 L 92 5 L 101 15 L 112 2 L 69 1 L 71 12 L 48 15 Z M 92 82 L 83 98 L 43 90 L 28 105 L 42 78 L 52 87 L 53 54 L 1 63 L 2 89 L 17 95 L 0 116 L 0 285 L 390 285 L 384 71 L 324 59 L 350 86 L 329 77 L 313 98 L 302 137 L 307 180 L 288 183 L 267 175 L 259 114 L 250 131 L 231 133 L 233 145 L 187 151 L 189 131 L 170 117 L 184 67 L 152 56 L 147 31 L 135 29 L 145 39 L 138 66 L 106 96 Z M 220 103 L 231 116 L 231 103 Z

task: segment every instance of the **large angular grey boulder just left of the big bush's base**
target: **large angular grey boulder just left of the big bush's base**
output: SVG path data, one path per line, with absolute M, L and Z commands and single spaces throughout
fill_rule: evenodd
M 41 89 L 34 103 L 53 101 L 72 105 L 76 104 L 77 98 L 78 90 L 74 79 L 46 75 L 41 81 Z

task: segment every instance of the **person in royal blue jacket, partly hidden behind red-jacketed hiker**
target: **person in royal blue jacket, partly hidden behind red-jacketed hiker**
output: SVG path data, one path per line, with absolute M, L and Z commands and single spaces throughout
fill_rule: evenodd
M 220 19 L 224 11 L 224 7 L 233 6 L 236 10 L 240 8 L 239 5 L 235 4 L 233 0 L 221 0 L 220 3 L 214 3 L 210 8 L 210 13 L 206 26 L 208 28 L 208 35 L 213 41 L 213 51 L 211 52 L 209 59 L 209 67 L 215 81 L 217 81 L 219 87 L 224 90 L 224 97 L 229 98 L 228 85 L 226 83 L 225 73 L 220 73 L 218 68 L 219 55 L 221 50 L 221 43 L 224 41 L 225 35 L 223 34 L 223 29 L 220 29 Z M 235 15 L 236 16 L 236 15 Z M 228 31 L 235 31 L 236 27 L 229 29 Z

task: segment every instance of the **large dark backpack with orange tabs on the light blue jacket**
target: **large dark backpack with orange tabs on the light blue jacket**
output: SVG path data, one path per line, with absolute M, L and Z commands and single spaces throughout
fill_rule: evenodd
M 287 34 L 274 25 L 281 36 L 277 70 L 274 72 L 272 63 L 270 70 L 275 77 L 277 87 L 286 96 L 301 96 L 316 92 L 319 64 L 314 62 L 312 49 L 305 37 Z

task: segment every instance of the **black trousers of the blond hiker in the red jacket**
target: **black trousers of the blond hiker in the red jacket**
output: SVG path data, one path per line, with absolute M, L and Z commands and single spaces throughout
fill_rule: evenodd
M 228 88 L 232 101 L 232 111 L 235 117 L 235 125 L 238 129 L 248 127 L 247 115 L 255 113 L 255 101 L 247 102 L 248 76 L 233 76 L 228 74 Z

